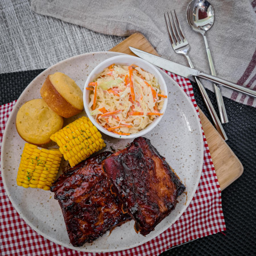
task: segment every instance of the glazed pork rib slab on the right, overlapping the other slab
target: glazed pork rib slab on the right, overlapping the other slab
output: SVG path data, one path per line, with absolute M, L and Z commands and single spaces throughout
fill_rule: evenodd
M 102 165 L 113 183 L 112 192 L 122 200 L 123 211 L 133 217 L 135 230 L 143 236 L 170 214 L 177 196 L 185 190 L 165 158 L 146 138 L 134 139 Z

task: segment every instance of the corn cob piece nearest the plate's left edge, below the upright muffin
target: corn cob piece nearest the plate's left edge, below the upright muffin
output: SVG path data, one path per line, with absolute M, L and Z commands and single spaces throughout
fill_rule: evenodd
M 39 149 L 25 143 L 19 164 L 17 185 L 49 190 L 59 171 L 62 154 L 56 148 Z

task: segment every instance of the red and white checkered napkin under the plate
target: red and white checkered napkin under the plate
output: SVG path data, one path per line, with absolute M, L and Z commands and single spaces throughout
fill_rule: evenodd
M 193 96 L 192 85 L 188 79 L 166 72 L 172 77 L 193 102 L 197 113 L 198 108 Z M 0 106 L 0 147 L 2 146 L 3 131 L 11 110 L 16 101 Z M 199 186 L 182 216 L 165 232 L 141 246 L 114 253 L 100 255 L 159 255 L 172 246 L 180 245 L 200 237 L 209 236 L 226 230 L 221 208 L 221 190 L 214 171 L 212 158 L 207 141 L 204 138 L 204 163 Z M 0 155 L 1 157 L 1 155 Z M 0 176 L 0 250 L 2 255 L 98 255 L 96 253 L 82 253 L 57 245 L 40 236 L 19 217 L 13 208 Z

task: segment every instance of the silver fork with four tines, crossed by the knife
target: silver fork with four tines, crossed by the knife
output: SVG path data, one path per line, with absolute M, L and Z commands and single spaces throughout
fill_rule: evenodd
M 170 16 L 171 16 L 171 18 L 170 18 Z M 175 16 L 175 18 L 174 18 L 174 16 Z M 168 34 L 169 34 L 169 38 L 170 38 L 170 41 L 172 44 L 172 48 L 174 49 L 174 51 L 176 53 L 185 55 L 185 57 L 188 60 L 189 66 L 191 68 L 193 68 L 194 66 L 191 62 L 191 59 L 188 56 L 188 51 L 189 51 L 190 47 L 189 47 L 187 39 L 185 38 L 185 36 L 183 34 L 183 31 L 181 29 L 179 20 L 177 19 L 175 10 L 174 10 L 174 15 L 172 15 L 172 12 L 165 13 L 164 18 L 166 19 L 166 26 L 168 29 Z M 220 133 L 222 138 L 226 141 L 228 139 L 228 137 L 226 136 L 226 133 L 221 125 L 221 121 L 218 118 L 218 115 L 213 108 L 212 102 L 210 102 L 209 96 L 208 96 L 203 84 L 201 83 L 201 81 L 199 79 L 197 79 L 197 77 L 195 77 L 195 80 L 196 80 L 197 85 L 199 86 L 200 93 L 202 94 L 205 105 L 207 106 L 207 109 L 210 113 L 210 116 L 213 119 L 214 125 L 216 126 L 218 133 Z

